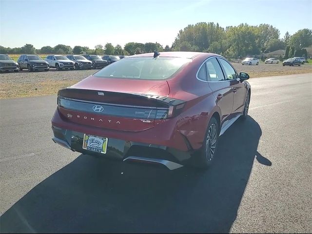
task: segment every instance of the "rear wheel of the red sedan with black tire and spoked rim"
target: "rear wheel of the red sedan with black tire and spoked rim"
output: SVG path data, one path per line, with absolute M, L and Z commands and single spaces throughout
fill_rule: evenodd
M 213 163 L 219 134 L 219 124 L 215 117 L 212 117 L 208 123 L 205 138 L 203 140 L 203 146 L 201 147 L 199 153 L 194 155 L 194 158 L 192 158 L 194 167 L 206 169 Z

